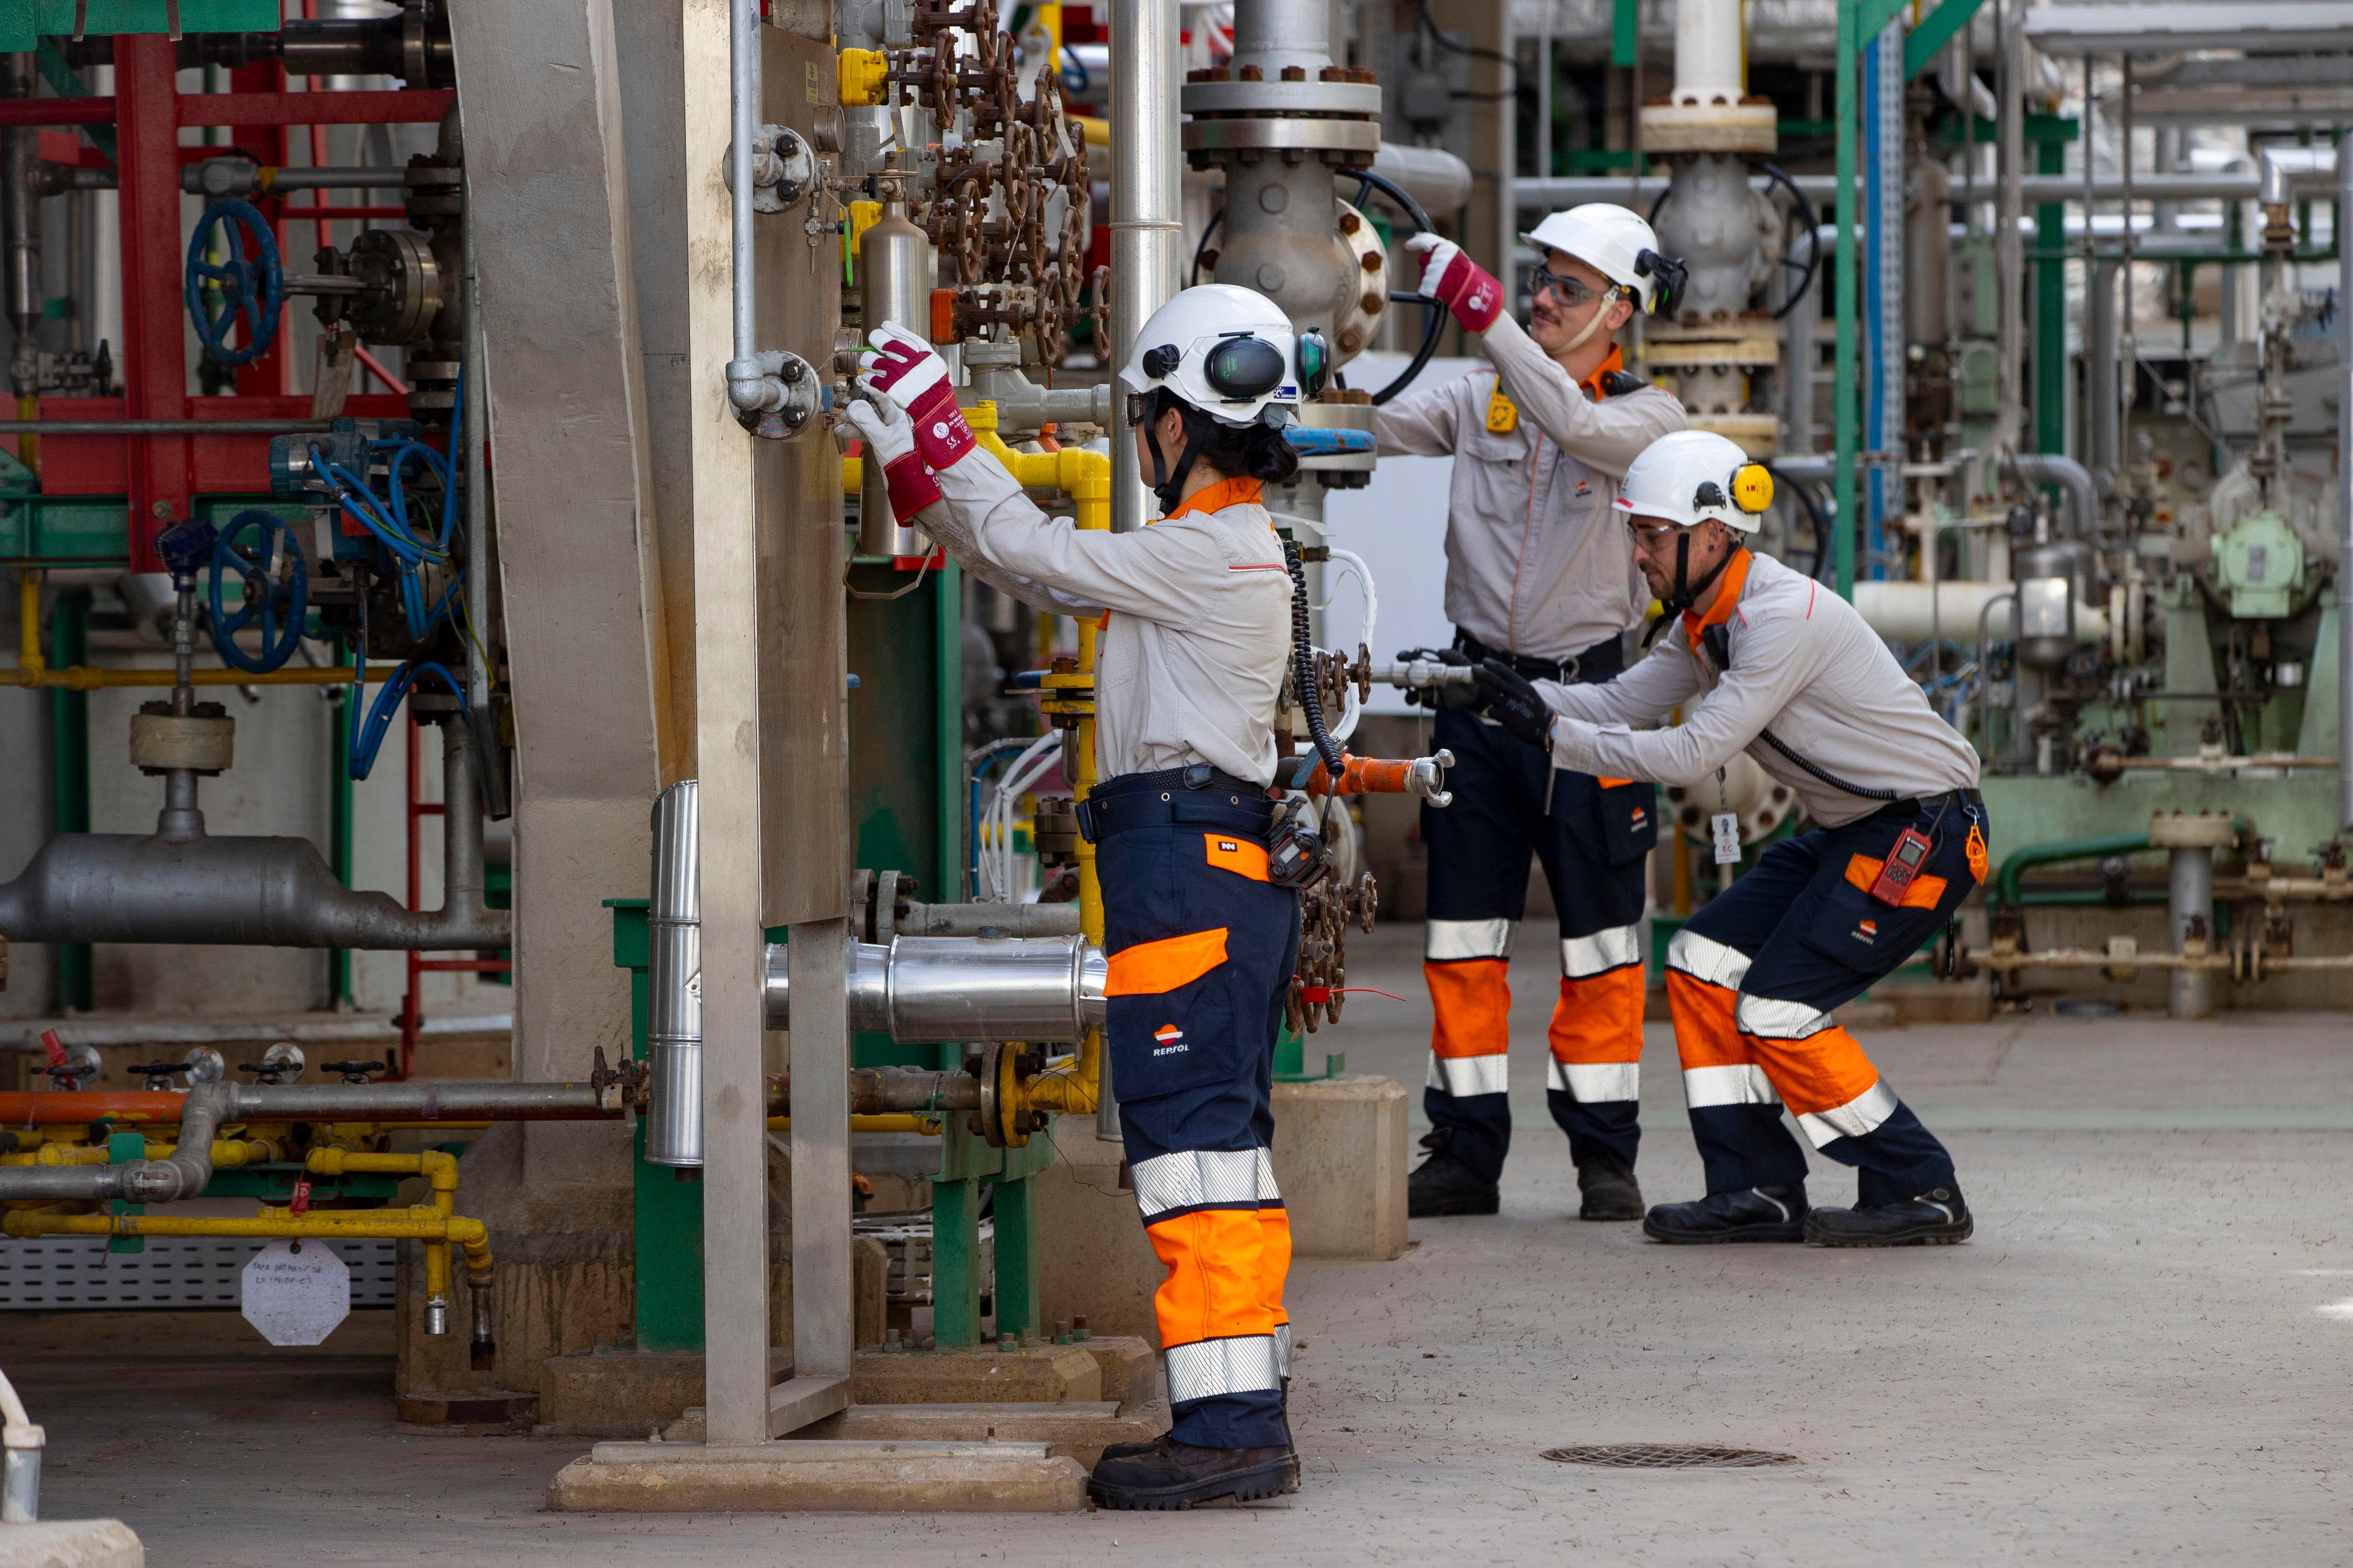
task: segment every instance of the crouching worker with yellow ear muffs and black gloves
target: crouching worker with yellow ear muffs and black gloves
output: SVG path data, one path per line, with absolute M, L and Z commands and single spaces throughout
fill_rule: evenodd
M 1527 682 L 1487 661 L 1480 698 L 1565 769 L 1685 785 L 1699 802 L 1746 752 L 1817 823 L 1767 849 L 1668 943 L 1708 1194 L 1652 1208 L 1642 1229 L 1659 1241 L 1965 1241 L 1951 1154 L 1831 1013 L 1920 952 L 1986 879 L 1977 752 L 1852 604 L 1748 550 L 1769 501 L 1772 475 L 1729 440 L 1659 440 L 1626 470 L 1617 510 L 1673 630 L 1607 686 Z M 1682 724 L 1642 729 L 1675 708 Z M 1784 1105 L 1821 1154 L 1859 1168 L 1854 1208 L 1807 1208 Z

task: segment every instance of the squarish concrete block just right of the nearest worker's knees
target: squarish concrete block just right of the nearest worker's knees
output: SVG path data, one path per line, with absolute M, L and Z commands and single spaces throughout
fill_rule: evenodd
M 1398 1079 L 1275 1084 L 1275 1185 L 1299 1258 L 1405 1255 L 1405 1110 Z

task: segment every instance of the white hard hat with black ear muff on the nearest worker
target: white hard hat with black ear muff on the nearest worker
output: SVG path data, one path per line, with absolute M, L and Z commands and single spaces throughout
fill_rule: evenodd
M 1139 397 L 1167 388 L 1221 425 L 1278 425 L 1297 414 L 1301 388 L 1322 390 L 1327 364 L 1322 336 L 1301 339 L 1275 301 L 1205 282 L 1153 310 L 1120 383 Z

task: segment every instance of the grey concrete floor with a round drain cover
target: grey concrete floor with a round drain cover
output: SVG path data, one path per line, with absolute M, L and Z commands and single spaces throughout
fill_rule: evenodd
M 2353 1559 L 2353 1030 L 2035 1013 L 1864 1037 L 1944 1133 L 1960 1248 L 1675 1251 L 1579 1225 L 1544 1112 L 1553 959 L 1525 931 L 1520 1147 L 1492 1220 L 1391 1265 L 1301 1262 L 1306 1488 L 1071 1519 L 544 1514 L 576 1441 L 391 1422 L 388 1356 L 193 1366 L 169 1335 L 0 1352 L 49 1429 L 45 1512 L 115 1514 L 158 1566 L 409 1563 L 1984 1563 Z M 1419 1084 L 1419 933 L 1351 943 L 1318 1048 Z M 1652 1027 L 1642 1180 L 1694 1197 Z M 1817 1201 L 1852 1201 L 1821 1171 Z M 1560 1443 L 1774 1448 L 1795 1465 L 1607 1472 Z

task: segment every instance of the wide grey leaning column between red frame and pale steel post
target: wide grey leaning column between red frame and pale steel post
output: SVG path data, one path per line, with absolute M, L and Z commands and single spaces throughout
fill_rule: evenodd
M 664 639 L 612 0 L 452 14 L 515 698 L 515 1077 L 628 1053 L 605 898 L 645 889 Z M 560 242 L 551 237 L 560 235 Z M 529 1180 L 626 1182 L 607 1128 Z

